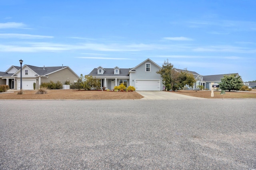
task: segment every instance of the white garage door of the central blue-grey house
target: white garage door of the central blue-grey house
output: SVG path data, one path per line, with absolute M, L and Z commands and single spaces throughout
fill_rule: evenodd
M 136 90 L 160 90 L 160 80 L 136 80 Z

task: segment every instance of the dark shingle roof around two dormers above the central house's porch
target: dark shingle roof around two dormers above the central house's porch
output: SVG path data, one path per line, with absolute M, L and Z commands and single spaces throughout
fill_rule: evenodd
M 88 76 L 129 76 L 129 70 L 130 68 L 120 68 L 120 72 L 119 74 L 114 74 L 114 68 L 104 68 L 104 70 L 106 70 L 103 74 L 98 74 L 98 70 L 97 68 L 94 68 L 89 74 Z

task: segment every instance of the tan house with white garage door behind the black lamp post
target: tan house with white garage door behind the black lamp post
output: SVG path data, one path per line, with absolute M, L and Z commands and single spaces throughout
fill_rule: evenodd
M 36 89 L 43 82 L 60 81 L 65 84 L 76 82 L 79 76 L 68 66 L 37 67 L 31 65 L 22 66 L 22 90 L 33 90 L 34 82 Z M 0 84 L 9 85 L 10 89 L 20 90 L 20 67 L 11 66 L 6 72 L 0 72 Z

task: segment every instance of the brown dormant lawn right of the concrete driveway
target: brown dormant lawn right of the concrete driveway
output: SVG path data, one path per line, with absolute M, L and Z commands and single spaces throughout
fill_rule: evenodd
M 220 91 L 214 91 L 214 97 L 211 97 L 211 91 L 204 90 L 181 90 L 172 93 L 184 94 L 198 98 L 256 98 L 256 90 L 253 90 L 252 92 L 226 92 L 226 94 L 220 94 Z

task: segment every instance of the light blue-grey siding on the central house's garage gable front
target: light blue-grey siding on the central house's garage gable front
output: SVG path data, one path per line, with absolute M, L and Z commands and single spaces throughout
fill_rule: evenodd
M 150 63 L 150 72 L 146 71 L 146 63 Z M 157 74 L 160 68 L 151 62 L 144 62 L 138 68 L 136 68 L 135 72 L 130 72 L 130 83 L 131 86 L 136 88 L 136 80 L 160 80 L 160 90 L 162 90 L 162 78 L 160 74 Z M 145 84 L 146 86 L 146 84 Z

